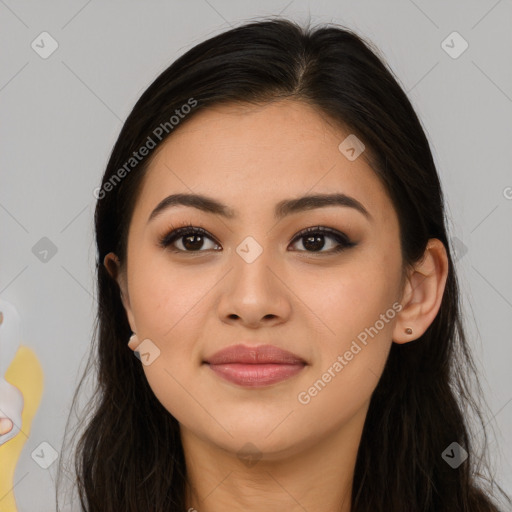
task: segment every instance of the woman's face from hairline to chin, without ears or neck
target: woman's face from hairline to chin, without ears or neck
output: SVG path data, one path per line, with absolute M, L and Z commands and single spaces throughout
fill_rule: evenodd
M 272 459 L 362 425 L 392 343 L 402 259 L 382 184 L 351 139 L 339 148 L 349 135 L 296 101 L 224 105 L 178 126 L 155 155 L 121 281 L 130 325 L 148 340 L 148 382 L 182 432 Z M 174 202 L 151 216 L 175 194 L 223 206 Z M 288 204 L 334 194 L 352 199 Z M 205 232 L 160 245 L 189 223 Z M 318 226 L 329 233 L 299 236 Z M 302 363 L 207 363 L 239 344 Z

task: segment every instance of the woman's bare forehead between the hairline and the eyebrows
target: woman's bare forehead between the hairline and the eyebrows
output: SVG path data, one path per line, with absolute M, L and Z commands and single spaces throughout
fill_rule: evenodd
M 303 102 L 209 107 L 158 148 L 138 209 L 147 217 L 167 195 L 195 192 L 222 200 L 238 217 L 273 210 L 283 199 L 337 192 L 387 217 L 392 204 L 364 152 L 351 161 L 339 149 L 349 135 Z

